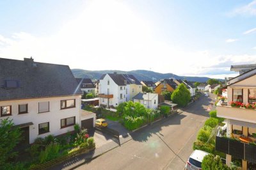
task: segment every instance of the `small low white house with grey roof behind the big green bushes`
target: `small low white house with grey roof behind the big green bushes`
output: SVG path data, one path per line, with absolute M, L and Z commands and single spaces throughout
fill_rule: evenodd
M 139 102 L 150 109 L 157 109 L 158 94 L 157 93 L 138 93 L 132 98 L 133 102 Z

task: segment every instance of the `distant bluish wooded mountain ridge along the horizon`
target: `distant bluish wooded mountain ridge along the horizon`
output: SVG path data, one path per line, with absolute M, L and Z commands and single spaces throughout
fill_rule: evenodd
M 171 77 L 175 79 L 193 81 L 193 82 L 206 82 L 209 77 L 190 77 L 190 76 L 179 76 L 172 73 L 157 73 L 148 70 L 132 70 L 129 72 L 121 70 L 100 70 L 100 71 L 90 71 L 83 69 L 71 69 L 72 73 L 77 78 L 89 78 L 89 79 L 100 79 L 104 73 L 126 73 L 134 75 L 139 81 L 159 81 L 161 79 L 169 79 Z

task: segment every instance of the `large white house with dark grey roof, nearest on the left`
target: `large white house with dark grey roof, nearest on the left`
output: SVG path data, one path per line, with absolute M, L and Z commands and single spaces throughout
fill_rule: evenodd
M 70 132 L 82 120 L 94 122 L 93 115 L 81 117 L 81 91 L 67 65 L 0 58 L 0 72 L 0 120 L 10 118 L 23 130 L 20 145 Z

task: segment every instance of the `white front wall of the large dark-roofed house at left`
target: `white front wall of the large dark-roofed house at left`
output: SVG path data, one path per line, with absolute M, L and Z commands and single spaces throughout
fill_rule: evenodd
M 61 100 L 76 99 L 76 107 L 70 109 L 60 109 Z M 49 102 L 49 112 L 38 113 L 38 102 Z M 19 114 L 19 104 L 28 104 L 28 113 Z M 45 137 L 49 134 L 60 135 L 74 130 L 74 126 L 61 128 L 61 119 L 76 116 L 76 123 L 81 126 L 80 109 L 81 97 L 51 97 L 33 98 L 24 100 L 9 100 L 0 102 L 0 106 L 12 105 L 12 116 L 0 117 L 3 120 L 7 117 L 13 119 L 15 125 L 32 122 L 29 126 L 29 143 L 33 143 L 36 137 Z M 38 134 L 38 124 L 49 122 L 49 132 Z

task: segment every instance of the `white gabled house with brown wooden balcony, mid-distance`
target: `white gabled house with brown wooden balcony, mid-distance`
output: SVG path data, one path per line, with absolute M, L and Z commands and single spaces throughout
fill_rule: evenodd
M 99 105 L 116 107 L 142 92 L 142 84 L 133 75 L 107 73 L 100 77 Z

